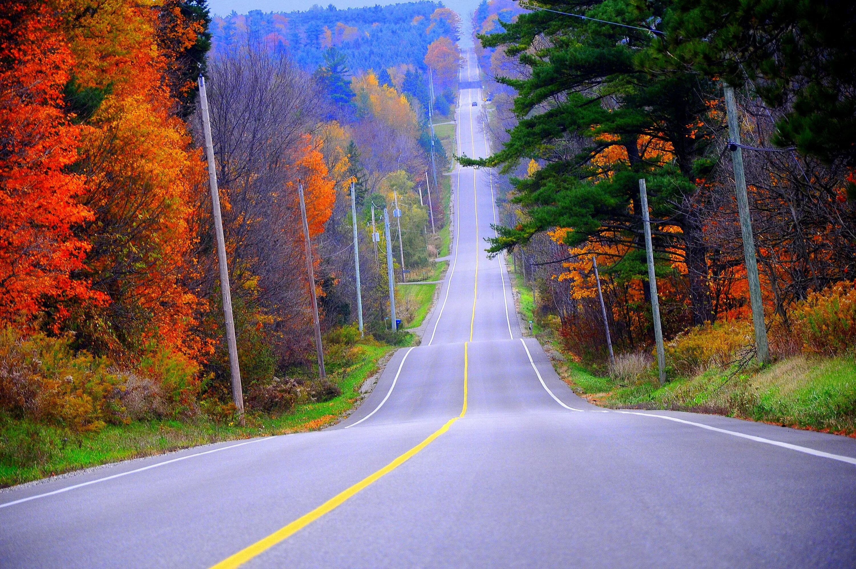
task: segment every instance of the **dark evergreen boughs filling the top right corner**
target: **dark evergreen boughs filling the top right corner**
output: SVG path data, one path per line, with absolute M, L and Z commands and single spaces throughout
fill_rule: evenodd
M 782 107 L 774 142 L 856 165 L 856 3 L 675 0 L 662 63 L 688 63 Z

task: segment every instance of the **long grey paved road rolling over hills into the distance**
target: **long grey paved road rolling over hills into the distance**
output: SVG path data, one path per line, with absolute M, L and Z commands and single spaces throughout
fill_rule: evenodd
M 478 81 L 472 58 L 461 73 Z M 479 99 L 461 90 L 473 156 Z M 425 338 L 348 421 L 0 494 L 0 566 L 854 565 L 856 440 L 587 404 L 521 339 L 484 255 L 490 180 L 453 176 Z

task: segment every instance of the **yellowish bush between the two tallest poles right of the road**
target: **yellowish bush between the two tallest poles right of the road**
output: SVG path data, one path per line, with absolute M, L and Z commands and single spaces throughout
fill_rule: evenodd
M 744 320 L 696 326 L 666 344 L 666 359 L 681 375 L 701 374 L 734 361 L 740 350 L 753 344 L 753 338 L 752 322 Z

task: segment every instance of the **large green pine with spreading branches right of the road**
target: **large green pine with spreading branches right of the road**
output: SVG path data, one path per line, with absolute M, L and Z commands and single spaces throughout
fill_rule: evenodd
M 550 8 L 638 27 L 654 16 L 633 0 L 582 8 L 563 1 Z M 644 278 L 638 180 L 645 177 L 657 248 L 681 251 L 693 320 L 712 320 L 707 249 L 693 203 L 694 180 L 707 164 L 704 155 L 714 135 L 699 119 L 716 97 L 715 85 L 683 71 L 646 72 L 646 50 L 657 41 L 651 33 L 568 15 L 523 14 L 505 24 L 504 32 L 480 39 L 487 47 L 504 46 L 531 74 L 497 78 L 518 92 L 519 123 L 499 153 L 482 160 L 465 157 L 462 164 L 502 165 L 506 172 L 520 159 L 544 164 L 532 177 L 513 180 L 514 201 L 526 207 L 530 219 L 497 228 L 490 251 L 513 249 L 552 227 L 572 228 L 564 240 L 568 245 L 590 239 L 629 245 L 631 253 L 609 271 Z

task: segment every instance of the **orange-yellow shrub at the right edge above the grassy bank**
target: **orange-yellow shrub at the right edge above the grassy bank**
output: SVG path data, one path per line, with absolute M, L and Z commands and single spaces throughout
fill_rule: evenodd
M 856 287 L 842 281 L 813 292 L 791 311 L 793 333 L 805 352 L 838 356 L 856 345 Z

